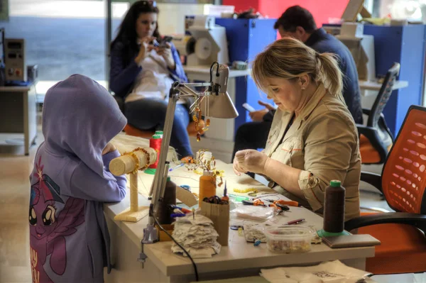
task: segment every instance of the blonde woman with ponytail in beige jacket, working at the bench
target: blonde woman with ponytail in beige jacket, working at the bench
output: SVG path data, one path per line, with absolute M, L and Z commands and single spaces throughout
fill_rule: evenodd
M 256 57 L 253 79 L 278 111 L 265 150 L 236 152 L 234 171 L 264 175 L 269 187 L 317 213 L 323 211 L 324 189 L 339 179 L 347 221 L 359 216 L 361 157 L 334 56 L 282 38 Z

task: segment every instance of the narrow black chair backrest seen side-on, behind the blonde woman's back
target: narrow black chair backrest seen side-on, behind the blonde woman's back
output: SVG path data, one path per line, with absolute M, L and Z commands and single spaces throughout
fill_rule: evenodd
M 380 91 L 378 91 L 373 107 L 371 107 L 371 113 L 368 116 L 367 126 L 378 128 L 378 119 L 380 118 L 383 109 L 391 97 L 392 87 L 395 83 L 396 77 L 399 74 L 399 70 L 400 64 L 393 63 L 391 69 L 389 69 L 386 73 L 385 80 L 383 81 Z

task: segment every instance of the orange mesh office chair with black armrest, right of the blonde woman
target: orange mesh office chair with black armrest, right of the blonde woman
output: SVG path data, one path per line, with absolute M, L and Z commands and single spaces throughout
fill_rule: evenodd
M 345 223 L 381 241 L 367 258 L 373 274 L 426 271 L 426 108 L 410 106 L 381 176 L 361 172 L 361 180 L 383 192 L 396 212 L 368 213 Z

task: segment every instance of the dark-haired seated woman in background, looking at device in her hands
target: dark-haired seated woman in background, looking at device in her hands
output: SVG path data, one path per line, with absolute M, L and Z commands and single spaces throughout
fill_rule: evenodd
M 162 130 L 168 94 L 175 80 L 187 82 L 178 51 L 160 42 L 155 1 L 137 1 L 127 11 L 119 33 L 111 43 L 109 86 L 125 98 L 128 123 L 143 131 Z M 170 145 L 181 157 L 192 156 L 187 126 L 190 115 L 183 104 L 175 111 Z

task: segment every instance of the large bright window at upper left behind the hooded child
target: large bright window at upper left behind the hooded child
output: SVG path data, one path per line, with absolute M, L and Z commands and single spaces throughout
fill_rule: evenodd
M 113 30 L 128 3 L 113 4 Z M 26 65 L 38 65 L 36 91 L 45 92 L 71 74 L 84 74 L 106 86 L 104 1 L 9 1 L 6 38 L 24 38 Z

